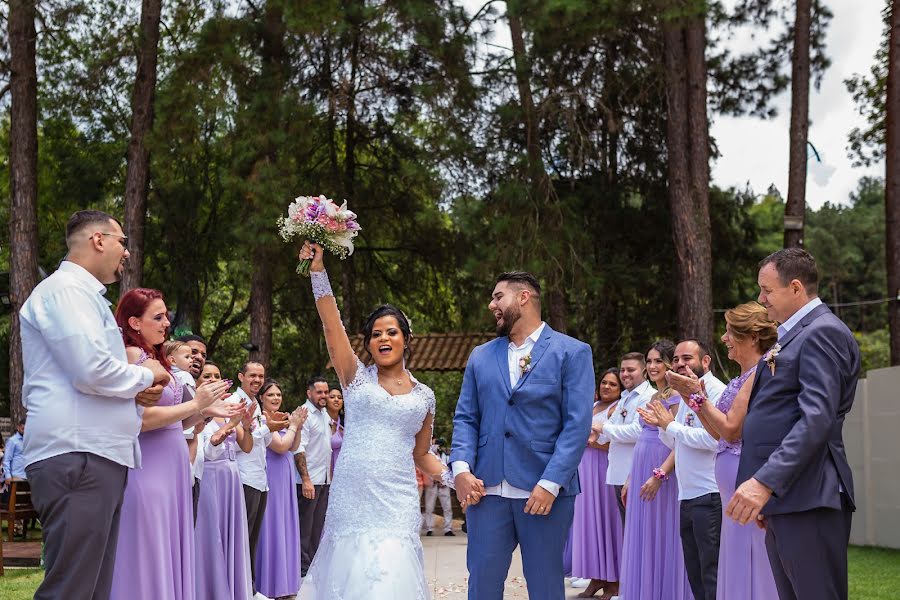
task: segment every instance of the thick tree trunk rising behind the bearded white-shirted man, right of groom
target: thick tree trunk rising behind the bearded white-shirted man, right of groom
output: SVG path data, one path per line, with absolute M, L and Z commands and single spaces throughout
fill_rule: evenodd
M 709 123 L 705 14 L 663 26 L 669 201 L 675 246 L 678 337 L 712 341 Z

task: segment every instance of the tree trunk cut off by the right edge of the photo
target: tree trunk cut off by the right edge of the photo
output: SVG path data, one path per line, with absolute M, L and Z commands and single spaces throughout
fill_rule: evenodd
M 885 264 L 891 364 L 900 365 L 900 0 L 891 2 L 885 147 Z

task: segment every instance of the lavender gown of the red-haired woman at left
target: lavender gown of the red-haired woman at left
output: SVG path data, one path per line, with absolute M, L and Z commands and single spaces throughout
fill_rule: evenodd
M 138 364 L 148 357 L 142 356 Z M 181 402 L 175 378 L 159 406 Z M 141 468 L 128 470 L 113 572 L 113 600 L 194 599 L 191 463 L 181 422 L 138 436 Z M 95 549 L 85 548 L 85 552 Z

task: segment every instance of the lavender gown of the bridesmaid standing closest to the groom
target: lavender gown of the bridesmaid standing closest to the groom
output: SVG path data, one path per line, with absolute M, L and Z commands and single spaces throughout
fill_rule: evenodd
M 607 409 L 594 416 L 595 425 L 607 420 Z M 616 490 L 606 485 L 608 465 L 609 453 L 597 448 L 586 448 L 578 465 L 581 494 L 575 497 L 572 521 L 572 575 L 615 582 L 619 581 L 623 527 Z

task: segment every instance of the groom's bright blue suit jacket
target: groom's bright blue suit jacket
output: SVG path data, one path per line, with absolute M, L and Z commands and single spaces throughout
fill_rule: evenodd
M 456 416 L 451 461 L 469 464 L 485 486 L 531 491 L 546 479 L 560 496 L 578 494 L 578 463 L 591 432 L 591 348 L 547 325 L 531 351 L 531 368 L 510 386 L 509 338 L 469 356 Z

